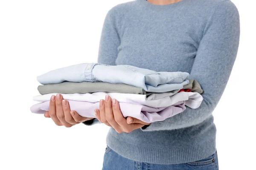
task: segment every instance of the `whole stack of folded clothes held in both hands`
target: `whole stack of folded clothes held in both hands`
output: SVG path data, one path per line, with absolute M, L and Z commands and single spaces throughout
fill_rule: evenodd
M 32 113 L 49 110 L 49 100 L 58 93 L 80 116 L 95 118 L 100 99 L 106 95 L 119 102 L 124 117 L 143 122 L 163 121 L 201 105 L 203 90 L 186 72 L 156 72 L 131 65 L 83 63 L 49 71 L 37 77 L 41 95 L 34 96 Z

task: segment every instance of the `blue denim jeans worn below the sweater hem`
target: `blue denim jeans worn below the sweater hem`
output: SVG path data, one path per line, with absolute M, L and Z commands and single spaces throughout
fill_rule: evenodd
M 184 164 L 150 164 L 120 156 L 107 146 L 102 170 L 218 170 L 217 152 L 200 161 Z

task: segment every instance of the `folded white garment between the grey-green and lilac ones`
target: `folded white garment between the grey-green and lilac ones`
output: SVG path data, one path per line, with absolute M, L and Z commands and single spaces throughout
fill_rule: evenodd
M 38 102 L 46 102 L 50 100 L 53 94 L 44 94 L 34 96 L 33 100 Z M 199 93 L 194 92 L 180 92 L 180 93 L 162 93 L 162 94 L 151 94 L 149 97 L 143 94 L 122 94 L 122 93 L 107 93 L 107 92 L 96 92 L 87 94 L 61 94 L 63 99 L 83 102 L 99 102 L 100 99 L 105 99 L 106 95 L 111 96 L 112 99 L 116 99 L 118 102 L 125 102 L 137 105 L 145 105 L 152 108 L 162 108 L 174 105 L 177 102 L 185 101 L 185 105 L 189 108 L 196 109 L 201 105 L 203 97 Z

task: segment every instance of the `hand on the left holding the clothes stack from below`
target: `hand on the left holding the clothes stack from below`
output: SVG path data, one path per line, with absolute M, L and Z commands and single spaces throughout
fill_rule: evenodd
M 63 99 L 61 94 L 52 95 L 49 111 L 44 113 L 47 118 L 52 118 L 57 126 L 72 127 L 73 125 L 93 119 L 81 117 L 76 111 L 70 111 L 68 101 Z

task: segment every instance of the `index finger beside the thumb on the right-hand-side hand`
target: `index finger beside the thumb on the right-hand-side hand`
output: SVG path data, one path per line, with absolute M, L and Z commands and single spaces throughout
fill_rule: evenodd
M 120 111 L 120 106 L 119 103 L 116 99 L 113 99 L 113 115 L 114 115 L 114 119 L 117 122 L 117 124 L 119 126 L 122 127 L 122 130 L 124 132 L 130 132 L 130 127 L 127 123 L 126 123 L 126 119 L 124 118 L 124 116 L 122 115 L 122 112 Z

